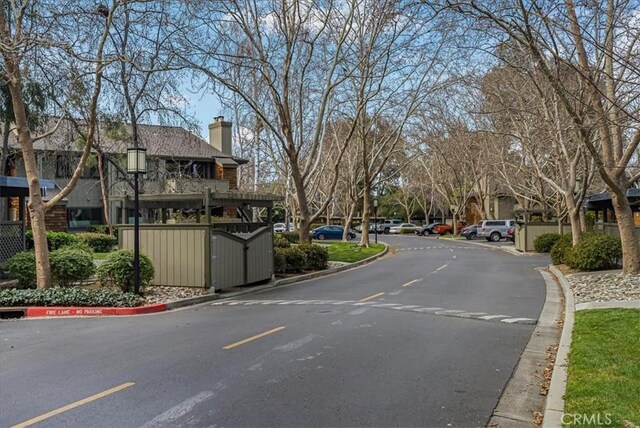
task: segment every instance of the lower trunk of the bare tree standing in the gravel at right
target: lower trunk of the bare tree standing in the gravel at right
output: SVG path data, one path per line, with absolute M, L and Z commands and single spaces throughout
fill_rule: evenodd
M 640 273 L 640 242 L 633 213 L 625 194 L 613 192 L 611 197 L 622 241 L 622 271 L 625 274 Z

